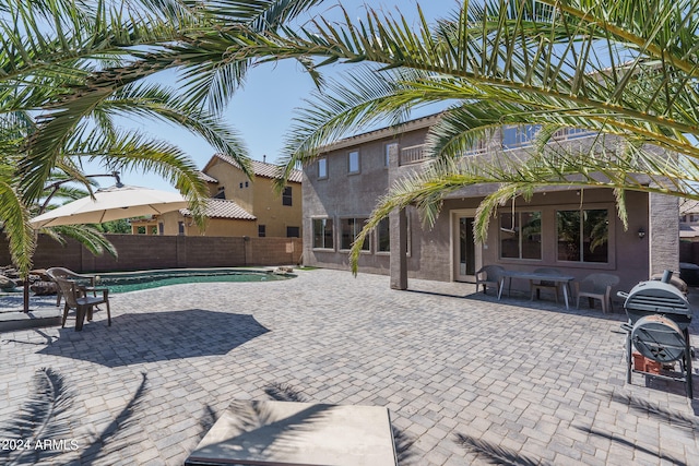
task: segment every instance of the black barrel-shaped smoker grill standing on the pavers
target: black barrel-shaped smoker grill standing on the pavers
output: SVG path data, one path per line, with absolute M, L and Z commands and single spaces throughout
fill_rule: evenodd
M 686 295 L 671 284 L 672 272 L 665 271 L 661 280 L 641 282 L 628 294 L 619 291 L 625 298 L 624 309 L 629 318 L 621 325 L 627 332 L 627 382 L 631 383 L 631 373 L 648 373 L 636 370 L 631 358 L 632 348 L 643 357 L 661 365 L 679 362 L 679 374 L 653 374 L 661 379 L 685 382 L 687 396 L 692 397 L 691 386 L 691 347 L 689 323 L 692 309 Z

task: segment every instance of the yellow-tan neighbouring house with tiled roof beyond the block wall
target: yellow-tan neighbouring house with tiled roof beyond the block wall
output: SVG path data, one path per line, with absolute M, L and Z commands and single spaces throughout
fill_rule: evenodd
M 188 210 L 161 215 L 162 235 L 249 236 L 299 238 L 301 224 L 301 171 L 294 170 L 282 194 L 274 192 L 279 168 L 252 160 L 250 180 L 238 164 L 225 154 L 214 154 L 202 169 L 211 192 L 201 231 Z

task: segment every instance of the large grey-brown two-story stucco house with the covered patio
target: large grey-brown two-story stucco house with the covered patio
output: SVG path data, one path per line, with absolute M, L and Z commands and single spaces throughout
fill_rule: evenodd
M 348 250 L 377 199 L 412 170 L 423 169 L 425 136 L 439 116 L 416 119 L 398 130 L 387 128 L 337 141 L 304 169 L 304 261 L 307 265 L 348 267 Z M 535 130 L 535 129 L 534 129 Z M 531 144 L 532 128 L 505 128 L 484 145 L 517 151 Z M 593 134 L 571 130 L 561 140 L 576 144 Z M 650 275 L 678 271 L 678 202 L 675 198 L 628 191 L 629 228 L 617 217 L 608 189 L 541 190 L 525 202 L 499 210 L 487 242 L 473 237 L 476 208 L 490 186 L 450 194 L 434 228 L 425 229 L 415 208 L 393 213 L 364 244 L 359 272 L 390 274 L 404 289 L 407 278 L 474 282 L 482 265 L 531 272 L 555 267 L 582 278 L 616 274 L 618 289 Z M 517 287 L 516 284 L 512 285 Z

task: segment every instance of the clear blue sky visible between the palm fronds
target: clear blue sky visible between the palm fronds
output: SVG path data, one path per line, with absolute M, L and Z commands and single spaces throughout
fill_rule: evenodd
M 354 17 L 366 17 L 363 0 L 328 0 L 316 8 L 313 13 L 336 19 L 340 12 L 333 5 L 339 2 Z M 458 0 L 379 0 L 368 3 L 375 10 L 394 16 L 400 11 L 411 23 L 416 17 L 416 3 L 420 4 L 428 21 L 449 16 L 460 4 Z M 335 67 L 339 71 L 343 68 L 348 69 L 348 67 Z M 312 89 L 313 84 L 310 77 L 293 60 L 252 69 L 244 88 L 239 89 L 230 100 L 225 119 L 240 134 L 251 158 L 262 160 L 263 156 L 266 156 L 266 162 L 274 163 L 281 155 L 284 135 L 291 127 L 294 109 L 303 105 L 303 99 L 308 97 Z M 215 152 L 205 141 L 181 128 L 149 124 L 149 128 L 142 130 L 147 131 L 153 138 L 178 145 L 192 157 L 199 168 L 203 168 Z M 121 178 L 126 184 L 175 191 L 175 188 L 153 174 L 123 172 Z M 100 178 L 97 181 L 103 187 L 112 184 L 110 178 Z

